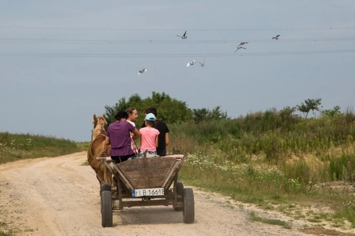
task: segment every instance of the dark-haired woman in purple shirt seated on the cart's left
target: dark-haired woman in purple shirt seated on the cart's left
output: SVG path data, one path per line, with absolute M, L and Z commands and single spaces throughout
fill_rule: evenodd
M 115 163 L 127 161 L 134 156 L 129 132 L 133 133 L 133 140 L 140 136 L 139 131 L 126 121 L 127 118 L 126 111 L 119 111 L 115 115 L 116 122 L 111 123 L 106 132 L 105 145 L 111 144 L 111 159 Z

